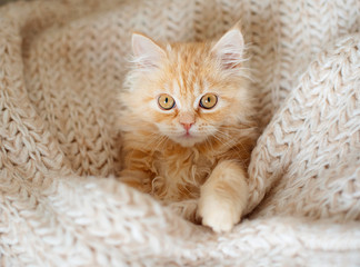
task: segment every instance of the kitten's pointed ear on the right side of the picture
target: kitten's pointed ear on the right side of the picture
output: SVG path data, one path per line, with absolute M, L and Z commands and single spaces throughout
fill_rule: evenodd
M 224 33 L 212 47 L 211 51 L 220 60 L 224 69 L 233 69 L 243 61 L 243 37 L 239 27 Z

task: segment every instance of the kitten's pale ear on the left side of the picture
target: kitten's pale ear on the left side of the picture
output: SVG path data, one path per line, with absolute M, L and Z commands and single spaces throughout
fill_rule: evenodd
M 144 70 L 159 67 L 166 57 L 164 50 L 159 44 L 141 33 L 132 33 L 132 52 L 137 66 Z

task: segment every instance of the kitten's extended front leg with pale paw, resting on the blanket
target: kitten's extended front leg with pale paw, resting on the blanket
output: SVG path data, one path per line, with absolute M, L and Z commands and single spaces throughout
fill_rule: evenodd
M 237 162 L 224 160 L 217 165 L 201 187 L 199 215 L 202 225 L 214 231 L 229 231 L 240 221 L 248 201 L 244 169 Z

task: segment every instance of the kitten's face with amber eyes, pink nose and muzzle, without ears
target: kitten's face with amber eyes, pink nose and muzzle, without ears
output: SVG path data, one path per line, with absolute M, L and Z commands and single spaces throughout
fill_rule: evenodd
M 153 90 L 149 112 L 162 135 L 190 147 L 217 135 L 230 102 L 207 77 L 193 77 L 191 85 L 183 85 L 181 78 L 157 82 L 161 90 Z

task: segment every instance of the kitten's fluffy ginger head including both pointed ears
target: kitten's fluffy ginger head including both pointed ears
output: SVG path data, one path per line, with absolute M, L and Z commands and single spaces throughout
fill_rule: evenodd
M 243 47 L 237 28 L 199 43 L 159 44 L 133 33 L 134 67 L 120 97 L 129 130 L 151 129 L 151 136 L 191 147 L 236 128 L 252 107 Z

